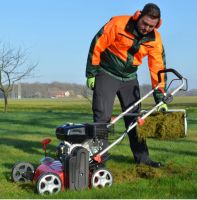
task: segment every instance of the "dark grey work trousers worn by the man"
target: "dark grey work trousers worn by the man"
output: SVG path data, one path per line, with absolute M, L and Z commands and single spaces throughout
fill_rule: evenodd
M 93 93 L 93 119 L 94 122 L 109 123 L 113 111 L 115 97 L 118 97 L 122 111 L 133 105 L 140 99 L 138 80 L 121 81 L 100 71 L 96 75 L 95 88 Z M 139 112 L 140 106 L 131 112 Z M 127 128 L 133 123 L 136 117 L 125 116 L 124 122 Z M 149 158 L 148 147 L 145 140 L 138 140 L 136 128 L 129 133 L 130 148 L 136 163 L 143 163 Z

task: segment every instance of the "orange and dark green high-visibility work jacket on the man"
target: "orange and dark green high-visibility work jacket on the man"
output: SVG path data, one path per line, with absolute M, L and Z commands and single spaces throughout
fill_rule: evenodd
M 92 40 L 86 76 L 93 77 L 99 70 L 123 81 L 137 78 L 138 66 L 148 56 L 153 88 L 158 84 L 157 73 L 165 69 L 165 53 L 157 29 L 139 36 L 132 16 L 116 16 L 105 24 Z M 165 78 L 162 85 L 165 88 Z

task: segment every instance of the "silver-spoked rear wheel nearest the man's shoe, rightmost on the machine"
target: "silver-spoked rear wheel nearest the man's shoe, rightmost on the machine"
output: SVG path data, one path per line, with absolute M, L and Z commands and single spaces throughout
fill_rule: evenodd
M 113 182 L 112 174 L 104 168 L 97 169 L 93 172 L 91 178 L 91 185 L 94 188 L 103 188 L 111 186 Z

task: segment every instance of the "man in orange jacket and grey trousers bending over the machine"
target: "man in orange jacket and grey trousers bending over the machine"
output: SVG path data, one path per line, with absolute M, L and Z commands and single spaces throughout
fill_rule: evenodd
M 95 35 L 86 67 L 87 86 L 94 90 L 94 122 L 110 122 L 116 95 L 122 111 L 140 99 L 137 69 L 145 56 L 148 56 L 152 87 L 158 84 L 157 73 L 165 69 L 164 49 L 157 31 L 160 25 L 160 9 L 149 3 L 133 16 L 112 17 Z M 161 86 L 165 89 L 165 77 L 162 77 Z M 160 91 L 154 92 L 156 103 L 162 97 Z M 167 109 L 166 104 L 161 108 Z M 139 109 L 132 112 L 139 112 Z M 128 127 L 134 120 L 125 117 L 125 126 Z M 128 136 L 137 164 L 161 166 L 161 163 L 150 159 L 146 141 L 138 141 L 136 129 L 132 129 Z

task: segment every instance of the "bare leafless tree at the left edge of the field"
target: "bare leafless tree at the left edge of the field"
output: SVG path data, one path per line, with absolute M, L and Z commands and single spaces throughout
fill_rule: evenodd
M 6 47 L 0 48 L 0 91 L 4 97 L 4 112 L 7 111 L 8 96 L 13 85 L 32 75 L 37 64 L 27 62 L 27 53 L 19 49 Z

